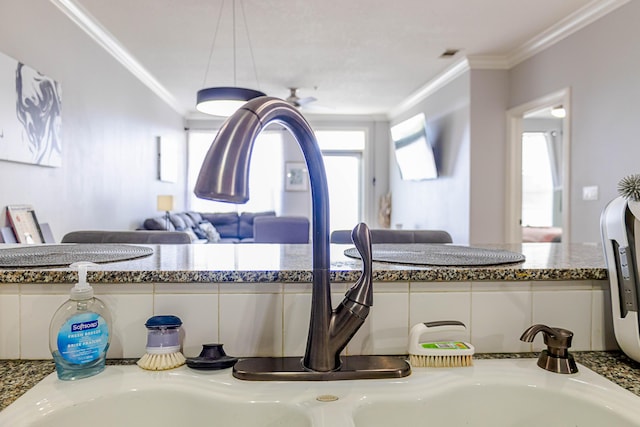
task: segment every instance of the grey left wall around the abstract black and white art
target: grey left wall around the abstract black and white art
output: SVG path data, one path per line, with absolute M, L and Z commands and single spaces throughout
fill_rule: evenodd
M 184 180 L 161 182 L 156 166 L 162 137 L 175 144 L 184 176 L 181 115 L 50 2 L 5 2 L 1 15 L 0 52 L 62 88 L 62 166 L 0 161 L 0 225 L 4 206 L 30 204 L 59 241 L 78 229 L 134 229 L 159 214 L 159 194 L 173 194 L 176 208 L 183 206 Z

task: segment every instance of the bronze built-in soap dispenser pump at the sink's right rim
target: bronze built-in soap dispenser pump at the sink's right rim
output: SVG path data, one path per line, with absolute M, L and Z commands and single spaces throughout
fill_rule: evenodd
M 538 366 L 559 374 L 574 374 L 578 372 L 578 365 L 573 356 L 569 354 L 573 332 L 562 328 L 551 328 L 547 325 L 533 325 L 522 333 L 520 341 L 533 342 L 533 339 L 542 332 L 546 350 L 540 353 Z

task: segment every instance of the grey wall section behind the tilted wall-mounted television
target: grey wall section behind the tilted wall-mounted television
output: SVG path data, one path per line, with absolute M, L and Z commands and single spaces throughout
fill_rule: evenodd
M 392 120 L 396 124 L 424 112 L 427 137 L 435 145 L 439 163 L 438 179 L 403 181 L 387 142 L 392 227 L 445 230 L 454 243 L 469 242 L 472 152 L 469 109 L 467 72 Z

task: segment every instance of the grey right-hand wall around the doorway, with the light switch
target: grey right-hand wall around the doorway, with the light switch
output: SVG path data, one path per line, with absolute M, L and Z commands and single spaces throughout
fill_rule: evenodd
M 640 173 L 640 2 L 632 1 L 513 68 L 510 107 L 571 88 L 571 241 L 599 242 L 617 183 Z M 582 187 L 600 198 L 583 201 Z

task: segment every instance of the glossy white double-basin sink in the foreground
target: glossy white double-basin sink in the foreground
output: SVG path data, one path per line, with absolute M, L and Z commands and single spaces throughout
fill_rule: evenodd
M 640 397 L 579 369 L 477 360 L 398 380 L 251 382 L 230 370 L 108 366 L 78 381 L 48 376 L 0 412 L 0 426 L 640 426 Z

